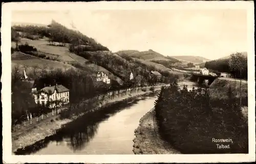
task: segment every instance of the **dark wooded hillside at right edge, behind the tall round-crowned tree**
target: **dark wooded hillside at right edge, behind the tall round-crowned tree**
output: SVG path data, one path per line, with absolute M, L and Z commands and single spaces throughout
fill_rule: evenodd
M 233 56 L 233 58 L 231 58 Z M 240 68 L 230 68 L 230 60 L 235 59 L 237 63 L 240 63 Z M 233 60 L 234 61 L 234 60 Z M 231 54 L 229 59 L 214 60 L 205 63 L 205 68 L 216 70 L 219 72 L 231 73 L 235 78 L 247 79 L 247 57 L 242 56 L 241 53 Z

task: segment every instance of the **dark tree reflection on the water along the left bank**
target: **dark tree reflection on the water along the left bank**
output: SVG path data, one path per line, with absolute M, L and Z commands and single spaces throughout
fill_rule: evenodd
M 151 95 L 154 96 L 154 95 Z M 49 143 L 56 142 L 56 144 L 66 143 L 67 146 L 74 152 L 84 149 L 87 144 L 92 140 L 97 133 L 99 123 L 107 120 L 109 117 L 114 116 L 124 108 L 130 108 L 138 103 L 142 98 L 131 98 L 133 101 L 118 102 L 110 106 L 102 107 L 100 110 L 88 113 L 73 122 L 66 124 L 65 127 L 56 131 L 56 134 L 51 135 L 44 140 L 38 141 L 35 144 L 18 149 L 16 155 L 28 155 L 36 153 L 37 151 L 46 148 Z M 131 101 L 131 99 L 129 101 Z M 148 109 L 149 110 L 149 109 Z M 111 127 L 109 127 L 111 128 Z

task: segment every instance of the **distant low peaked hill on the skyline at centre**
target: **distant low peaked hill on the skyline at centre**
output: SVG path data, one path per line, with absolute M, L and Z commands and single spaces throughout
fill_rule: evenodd
M 146 61 L 175 61 L 179 62 L 179 60 L 172 57 L 165 57 L 162 54 L 149 49 L 147 51 L 138 51 L 138 50 L 121 50 L 116 52 L 119 56 L 126 54 L 132 58 L 142 59 Z

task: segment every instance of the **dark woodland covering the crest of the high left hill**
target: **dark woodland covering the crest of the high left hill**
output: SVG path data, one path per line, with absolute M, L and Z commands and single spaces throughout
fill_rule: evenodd
M 83 35 L 79 31 L 74 31 L 66 28 L 60 23 L 52 20 L 48 26 L 36 26 L 36 25 L 14 25 L 12 30 L 16 32 L 23 32 L 24 36 L 28 39 L 39 39 L 42 37 L 49 38 L 49 42 L 59 42 L 62 44 L 70 43 L 73 45 L 87 45 L 90 51 L 106 50 L 109 49 L 99 43 L 93 38 L 89 38 Z M 90 48 L 89 48 L 90 47 Z

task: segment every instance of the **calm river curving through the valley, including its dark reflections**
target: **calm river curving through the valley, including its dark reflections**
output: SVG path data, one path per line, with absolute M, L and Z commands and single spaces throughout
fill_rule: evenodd
M 158 92 L 157 92 L 158 93 Z M 134 130 L 154 107 L 156 94 L 130 98 L 88 113 L 16 155 L 134 154 Z

